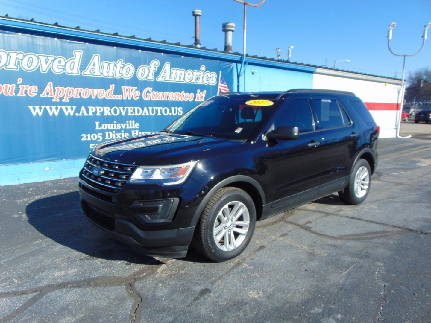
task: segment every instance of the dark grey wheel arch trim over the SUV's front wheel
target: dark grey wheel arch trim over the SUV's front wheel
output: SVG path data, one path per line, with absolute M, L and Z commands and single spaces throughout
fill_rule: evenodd
M 265 205 L 266 199 L 265 199 L 265 193 L 260 186 L 260 184 L 254 180 L 251 177 L 245 176 L 245 175 L 236 175 L 232 177 L 228 177 L 219 183 L 217 185 L 213 186 L 212 189 L 209 190 L 208 193 L 206 193 L 206 196 L 203 198 L 203 200 L 200 202 L 199 206 L 197 207 L 193 220 L 191 223 L 191 226 L 196 226 L 197 222 L 199 221 L 200 215 L 203 212 L 203 209 L 208 204 L 209 200 L 212 198 L 212 196 L 221 188 L 223 187 L 237 187 L 239 189 L 244 190 L 250 197 L 253 199 L 254 205 L 256 207 L 256 220 L 259 220 L 260 217 L 262 217 L 262 206 Z

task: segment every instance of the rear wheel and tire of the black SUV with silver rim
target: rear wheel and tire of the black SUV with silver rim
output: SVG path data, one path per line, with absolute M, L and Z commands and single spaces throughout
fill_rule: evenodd
M 365 201 L 371 186 L 371 168 L 365 159 L 359 159 L 353 167 L 349 185 L 338 192 L 340 199 L 357 205 Z

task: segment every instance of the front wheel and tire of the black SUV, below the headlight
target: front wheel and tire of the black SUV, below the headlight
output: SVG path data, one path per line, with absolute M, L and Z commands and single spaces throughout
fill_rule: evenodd
M 242 189 L 224 187 L 209 200 L 196 226 L 194 247 L 213 261 L 240 255 L 253 236 L 256 208 Z

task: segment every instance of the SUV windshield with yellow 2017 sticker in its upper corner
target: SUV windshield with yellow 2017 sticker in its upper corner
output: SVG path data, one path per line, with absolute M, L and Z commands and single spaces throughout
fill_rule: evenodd
M 208 100 L 172 122 L 165 130 L 174 134 L 244 140 L 266 120 L 273 104 L 272 100 L 262 99 Z

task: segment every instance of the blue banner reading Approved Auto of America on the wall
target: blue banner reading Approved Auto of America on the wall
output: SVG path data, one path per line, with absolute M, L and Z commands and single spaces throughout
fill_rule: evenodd
M 84 158 L 233 90 L 234 64 L 0 31 L 0 165 Z

